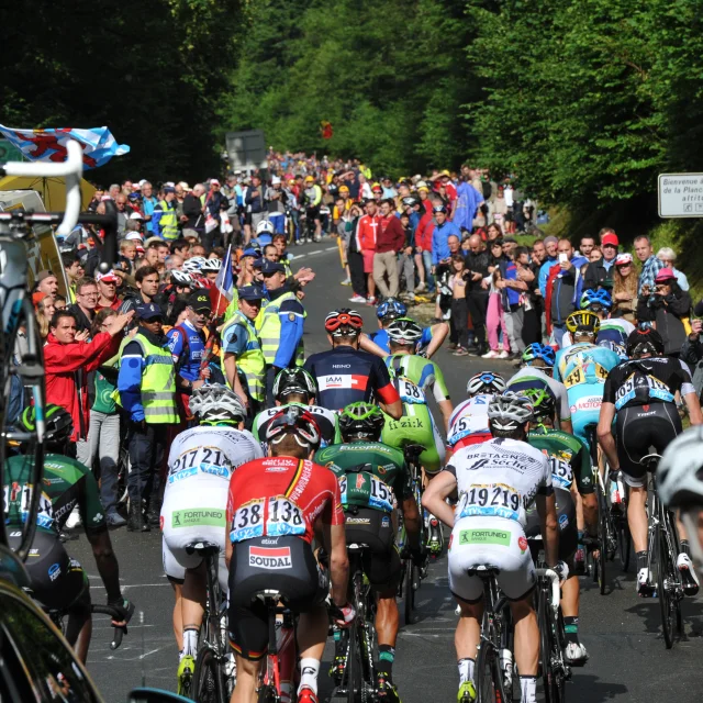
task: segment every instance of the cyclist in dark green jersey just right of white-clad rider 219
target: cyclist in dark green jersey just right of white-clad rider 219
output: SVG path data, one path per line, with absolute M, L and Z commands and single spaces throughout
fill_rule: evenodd
M 576 502 L 572 493 L 578 489 L 582 496 L 594 495 L 591 457 L 583 443 L 573 435 L 555 429 L 556 405 L 554 398 L 545 390 L 520 391 L 535 409 L 529 423 L 527 442 L 549 459 L 551 483 L 557 502 L 559 520 L 559 559 L 569 567 L 569 577 L 561 587 L 561 611 L 566 632 L 563 656 L 571 666 L 583 666 L 588 658 L 585 647 L 579 641 L 579 579 L 574 572 L 576 551 L 579 534 L 576 517 Z M 585 505 L 585 501 L 584 501 Z M 594 510 L 592 533 L 595 534 L 598 503 Z M 539 520 L 534 511 L 527 513 L 527 537 L 539 535 Z

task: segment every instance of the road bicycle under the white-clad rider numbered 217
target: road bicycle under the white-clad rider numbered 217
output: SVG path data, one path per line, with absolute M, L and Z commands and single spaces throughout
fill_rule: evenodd
M 186 554 L 203 558 L 207 576 L 205 611 L 200 627 L 196 668 L 192 679 L 181 682 L 183 695 L 199 703 L 226 703 L 235 684 L 233 659 L 228 652 L 226 626 L 227 600 L 217 578 L 220 545 L 197 542 L 186 546 Z

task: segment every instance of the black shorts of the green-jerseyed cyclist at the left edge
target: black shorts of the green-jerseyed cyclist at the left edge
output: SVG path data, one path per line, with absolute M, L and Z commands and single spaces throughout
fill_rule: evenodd
M 16 549 L 21 540 L 21 533 L 10 532 L 12 549 Z M 46 611 L 70 610 L 90 588 L 82 567 L 68 556 L 56 534 L 37 529 L 24 566 L 32 598 Z

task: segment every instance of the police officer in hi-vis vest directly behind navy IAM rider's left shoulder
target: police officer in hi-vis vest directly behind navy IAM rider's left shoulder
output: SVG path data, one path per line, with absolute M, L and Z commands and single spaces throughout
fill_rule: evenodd
M 274 381 L 281 369 L 302 366 L 304 361 L 303 325 L 305 310 L 295 293 L 286 286 L 282 264 L 264 259 L 261 276 L 268 301 L 256 319 L 256 330 L 266 361 L 266 400 L 274 405 Z

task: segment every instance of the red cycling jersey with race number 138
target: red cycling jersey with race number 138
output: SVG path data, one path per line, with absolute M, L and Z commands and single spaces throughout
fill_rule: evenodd
M 293 535 L 310 544 L 319 520 L 324 525 L 344 524 L 339 483 L 330 469 L 293 457 L 271 457 L 247 461 L 232 475 L 232 542 Z

